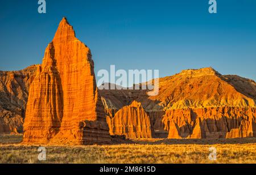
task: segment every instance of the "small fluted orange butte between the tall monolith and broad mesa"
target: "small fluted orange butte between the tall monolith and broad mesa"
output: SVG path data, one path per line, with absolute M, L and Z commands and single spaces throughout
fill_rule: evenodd
M 141 103 L 133 101 L 107 117 L 111 135 L 125 135 L 126 138 L 151 138 L 150 117 Z

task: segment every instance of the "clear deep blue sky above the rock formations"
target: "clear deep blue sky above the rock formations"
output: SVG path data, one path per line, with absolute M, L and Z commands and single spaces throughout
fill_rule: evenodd
M 0 70 L 42 63 L 63 16 L 99 69 L 159 69 L 160 76 L 212 66 L 256 80 L 256 1 L 37 0 L 0 2 Z

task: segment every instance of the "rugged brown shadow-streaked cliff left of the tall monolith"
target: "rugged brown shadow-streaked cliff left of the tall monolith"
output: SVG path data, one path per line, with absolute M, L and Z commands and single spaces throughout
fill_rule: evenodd
M 0 133 L 22 133 L 28 88 L 36 67 L 0 71 Z

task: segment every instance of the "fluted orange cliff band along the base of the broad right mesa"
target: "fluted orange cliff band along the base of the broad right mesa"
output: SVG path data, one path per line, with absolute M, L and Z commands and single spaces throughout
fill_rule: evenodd
M 217 107 L 169 109 L 163 117 L 168 138 L 239 138 L 256 136 L 255 108 Z M 174 125 L 176 127 L 174 127 Z M 239 134 L 237 131 L 247 134 Z M 172 134 L 172 133 L 179 133 Z M 229 133 L 230 132 L 230 133 Z M 237 133 L 238 134 L 234 134 Z

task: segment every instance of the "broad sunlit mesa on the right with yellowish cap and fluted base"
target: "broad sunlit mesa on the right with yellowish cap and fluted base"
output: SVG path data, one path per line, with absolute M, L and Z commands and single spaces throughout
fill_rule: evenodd
M 256 86 L 253 80 L 225 76 L 212 68 L 205 68 L 167 77 L 166 84 L 170 88 L 163 91 L 162 98 L 167 96 L 166 92 L 171 96 L 163 103 L 165 114 L 162 122 L 165 130 L 169 131 L 168 138 L 255 136 L 249 134 L 255 133 L 251 129 L 256 117 Z M 171 134 L 174 129 L 178 135 Z

